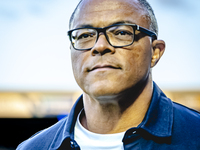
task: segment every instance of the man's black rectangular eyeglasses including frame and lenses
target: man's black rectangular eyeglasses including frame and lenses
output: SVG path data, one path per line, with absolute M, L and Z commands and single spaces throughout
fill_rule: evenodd
M 156 33 L 140 27 L 136 24 L 115 24 L 104 28 L 77 28 L 68 31 L 71 44 L 76 50 L 90 50 L 95 45 L 100 33 L 104 33 L 108 43 L 115 47 L 125 47 L 132 45 L 135 37 L 135 30 L 141 31 L 146 35 L 157 39 Z

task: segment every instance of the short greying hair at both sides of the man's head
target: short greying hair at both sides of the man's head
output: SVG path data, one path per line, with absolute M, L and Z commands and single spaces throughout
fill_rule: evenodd
M 70 21 L 69 21 L 69 28 L 71 28 L 71 24 L 72 21 L 74 20 L 74 16 L 75 13 L 80 5 L 80 3 L 83 0 L 80 0 L 78 5 L 76 6 L 74 12 L 72 13 L 71 17 L 70 17 Z M 140 5 L 144 8 L 144 10 L 146 10 L 147 12 L 147 17 L 150 18 L 150 25 L 149 25 L 149 29 L 153 32 L 155 32 L 158 35 L 158 23 L 156 20 L 156 16 L 154 14 L 153 8 L 151 7 L 151 5 L 146 1 L 146 0 L 138 0 L 138 2 L 140 3 Z

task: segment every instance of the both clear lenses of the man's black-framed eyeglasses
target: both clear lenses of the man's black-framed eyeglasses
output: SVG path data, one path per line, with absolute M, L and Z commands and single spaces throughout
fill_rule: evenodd
M 134 29 L 129 25 L 116 25 L 106 28 L 105 36 L 112 46 L 126 46 L 134 40 Z M 71 40 L 76 49 L 92 48 L 98 38 L 98 32 L 93 28 L 82 28 L 71 33 Z

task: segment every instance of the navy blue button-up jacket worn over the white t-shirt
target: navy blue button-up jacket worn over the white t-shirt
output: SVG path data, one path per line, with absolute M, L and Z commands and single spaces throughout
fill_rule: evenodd
M 74 141 L 77 115 L 83 108 L 82 96 L 68 117 L 36 133 L 17 150 L 78 150 Z M 200 150 L 200 114 L 172 102 L 154 83 L 151 104 L 142 123 L 126 131 L 125 150 Z

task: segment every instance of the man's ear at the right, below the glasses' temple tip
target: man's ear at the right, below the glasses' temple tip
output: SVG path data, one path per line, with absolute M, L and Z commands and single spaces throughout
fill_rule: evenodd
M 151 57 L 151 68 L 153 68 L 165 51 L 165 42 L 163 40 L 154 40 L 152 43 L 152 57 Z

